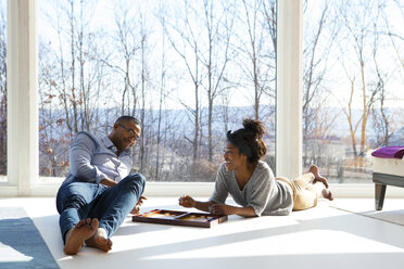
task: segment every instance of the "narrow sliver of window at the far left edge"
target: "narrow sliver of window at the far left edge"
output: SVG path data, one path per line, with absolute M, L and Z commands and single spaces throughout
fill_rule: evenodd
M 7 182 L 7 0 L 0 0 L 0 183 Z

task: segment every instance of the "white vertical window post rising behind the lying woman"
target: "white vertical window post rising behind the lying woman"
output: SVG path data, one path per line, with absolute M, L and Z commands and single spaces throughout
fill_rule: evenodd
M 276 176 L 287 178 L 302 172 L 302 5 L 277 5 Z

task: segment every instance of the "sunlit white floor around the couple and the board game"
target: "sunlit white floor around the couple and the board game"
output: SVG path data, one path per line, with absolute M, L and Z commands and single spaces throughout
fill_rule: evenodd
M 384 207 L 393 203 L 404 207 L 404 200 L 387 200 Z M 128 217 L 110 253 L 84 247 L 66 256 L 54 198 L 0 200 L 0 206 L 26 209 L 61 268 L 403 268 L 403 226 L 330 204 L 321 201 L 287 217 L 230 216 L 211 229 L 136 223 Z M 154 208 L 184 209 L 176 197 L 149 197 L 142 210 Z

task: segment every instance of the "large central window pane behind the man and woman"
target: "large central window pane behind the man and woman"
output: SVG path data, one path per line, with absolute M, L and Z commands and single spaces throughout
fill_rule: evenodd
M 40 176 L 64 177 L 79 130 L 135 115 L 134 169 L 213 181 L 227 130 L 267 126 L 275 169 L 275 0 L 39 0 Z

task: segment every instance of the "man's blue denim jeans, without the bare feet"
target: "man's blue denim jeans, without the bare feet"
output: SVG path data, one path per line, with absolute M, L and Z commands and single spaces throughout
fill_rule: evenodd
M 114 187 L 73 180 L 62 184 L 56 196 L 59 225 L 65 243 L 66 232 L 86 218 L 98 218 L 111 238 L 134 209 L 143 193 L 146 179 L 140 174 L 124 178 Z

